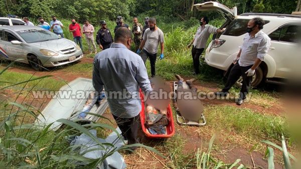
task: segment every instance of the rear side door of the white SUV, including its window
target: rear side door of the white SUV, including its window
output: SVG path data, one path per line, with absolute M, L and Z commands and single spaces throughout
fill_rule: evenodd
M 276 63 L 274 77 L 287 78 L 300 62 L 301 22 L 287 23 L 269 34 L 271 46 L 268 54 Z

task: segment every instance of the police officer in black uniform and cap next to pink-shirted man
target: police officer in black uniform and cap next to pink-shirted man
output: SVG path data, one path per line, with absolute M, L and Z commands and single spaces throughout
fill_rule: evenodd
M 100 21 L 101 27 L 96 34 L 96 42 L 102 50 L 109 48 L 113 42 L 111 31 L 107 28 L 104 20 Z

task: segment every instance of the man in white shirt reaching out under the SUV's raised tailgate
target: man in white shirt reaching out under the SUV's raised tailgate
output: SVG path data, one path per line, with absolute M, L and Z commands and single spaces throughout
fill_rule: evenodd
M 199 74 L 199 66 L 200 66 L 200 56 L 202 52 L 204 51 L 204 48 L 206 47 L 206 42 L 210 36 L 211 33 L 221 33 L 224 30 L 219 29 L 217 27 L 214 27 L 209 23 L 209 19 L 207 16 L 204 16 L 201 18 L 200 21 L 200 27 L 198 27 L 198 30 L 193 38 L 193 40 L 188 44 L 188 48 L 193 44 L 192 46 L 192 59 L 193 59 L 193 67 L 194 67 L 194 74 Z

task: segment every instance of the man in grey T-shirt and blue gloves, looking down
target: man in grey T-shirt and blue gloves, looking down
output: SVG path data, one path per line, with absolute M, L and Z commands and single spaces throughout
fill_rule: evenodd
M 157 52 L 158 52 L 158 45 L 160 42 L 161 47 L 161 54 L 160 59 L 163 59 L 164 57 L 164 34 L 163 31 L 157 27 L 157 21 L 156 18 L 150 18 L 148 20 L 148 26 L 144 31 L 142 41 L 140 44 L 140 47 L 137 50 L 137 54 L 139 54 L 142 50 L 141 57 L 144 61 L 149 57 L 150 62 L 150 71 L 152 73 L 152 77 L 156 75 L 156 59 L 157 59 Z

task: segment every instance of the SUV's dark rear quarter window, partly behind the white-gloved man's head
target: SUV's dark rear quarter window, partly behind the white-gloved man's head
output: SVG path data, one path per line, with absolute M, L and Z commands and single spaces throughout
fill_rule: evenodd
M 224 31 L 223 35 L 229 36 L 240 36 L 246 33 L 246 28 L 250 19 L 235 19 L 233 20 L 228 26 L 227 29 Z M 264 23 L 268 23 L 269 20 L 264 20 Z

